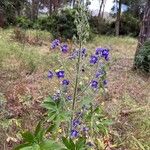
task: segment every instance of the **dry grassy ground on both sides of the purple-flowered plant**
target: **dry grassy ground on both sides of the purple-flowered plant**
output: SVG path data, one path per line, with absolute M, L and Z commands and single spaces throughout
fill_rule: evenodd
M 0 30 L 1 150 L 11 150 L 20 131 L 33 130 L 43 113 L 41 101 L 55 89 L 47 79 L 47 71 L 58 61 L 50 40 L 47 32 Z M 100 103 L 114 121 L 116 149 L 150 150 L 150 78 L 132 70 L 137 40 L 96 36 L 86 48 L 103 46 L 111 49 L 109 100 Z

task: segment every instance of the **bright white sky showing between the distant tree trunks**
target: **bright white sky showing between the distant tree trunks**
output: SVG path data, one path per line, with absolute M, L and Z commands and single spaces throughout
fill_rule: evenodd
M 100 7 L 100 0 L 90 0 L 91 1 L 91 5 L 89 6 L 89 8 L 91 10 L 98 10 Z M 110 12 L 111 8 L 113 6 L 113 0 L 106 0 L 106 6 L 105 6 L 105 12 Z

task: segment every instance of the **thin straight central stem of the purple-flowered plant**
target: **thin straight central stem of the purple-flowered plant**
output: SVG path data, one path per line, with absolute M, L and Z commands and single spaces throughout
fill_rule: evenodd
M 72 102 L 72 115 L 71 115 L 71 122 L 70 122 L 70 133 L 72 130 L 72 121 L 74 119 L 74 110 L 75 110 L 75 104 L 76 104 L 76 96 L 77 96 L 77 90 L 78 90 L 78 82 L 79 82 L 79 72 L 80 72 L 80 60 L 81 60 L 81 49 L 82 49 L 82 42 L 80 42 L 79 47 L 79 56 L 77 61 L 77 72 L 76 72 L 76 79 L 75 79 L 75 87 L 74 87 L 74 94 L 73 94 L 73 102 Z

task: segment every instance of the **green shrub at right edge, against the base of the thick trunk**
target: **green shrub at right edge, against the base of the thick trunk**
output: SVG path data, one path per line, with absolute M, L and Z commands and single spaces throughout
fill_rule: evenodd
M 150 73 L 150 41 L 146 41 L 135 57 L 135 66 L 147 73 Z

